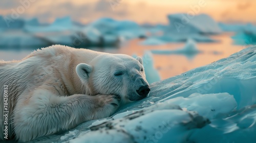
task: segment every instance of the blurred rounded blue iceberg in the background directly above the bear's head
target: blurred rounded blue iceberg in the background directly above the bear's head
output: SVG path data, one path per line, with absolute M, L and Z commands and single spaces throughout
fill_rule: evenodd
M 87 38 L 90 46 L 118 46 L 121 41 L 145 37 L 145 32 L 137 23 L 112 18 L 100 18 L 76 31 Z

